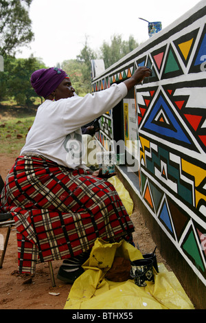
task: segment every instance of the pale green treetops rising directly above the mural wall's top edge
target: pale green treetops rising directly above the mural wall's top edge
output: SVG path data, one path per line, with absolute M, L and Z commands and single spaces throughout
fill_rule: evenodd
M 107 69 L 138 46 L 133 36 L 129 36 L 128 41 L 122 41 L 121 35 L 113 35 L 111 45 L 104 41 L 100 47 L 100 58 L 104 60 L 104 66 Z

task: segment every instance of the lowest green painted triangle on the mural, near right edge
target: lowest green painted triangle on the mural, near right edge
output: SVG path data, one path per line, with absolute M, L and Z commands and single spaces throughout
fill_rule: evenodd
M 189 236 L 187 237 L 187 240 L 185 243 L 183 243 L 183 249 L 187 254 L 190 254 L 192 258 L 194 259 L 194 262 L 196 264 L 196 267 L 201 267 L 203 271 L 205 271 L 205 266 L 203 264 L 198 246 L 196 244 L 196 238 L 194 236 L 194 232 L 191 231 Z

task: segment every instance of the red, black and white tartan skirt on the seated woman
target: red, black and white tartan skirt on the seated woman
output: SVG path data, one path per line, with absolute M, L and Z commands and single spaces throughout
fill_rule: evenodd
M 134 231 L 111 183 L 43 157 L 16 159 L 0 206 L 16 223 L 20 272 L 34 273 L 36 263 L 78 256 L 98 237 L 118 241 Z

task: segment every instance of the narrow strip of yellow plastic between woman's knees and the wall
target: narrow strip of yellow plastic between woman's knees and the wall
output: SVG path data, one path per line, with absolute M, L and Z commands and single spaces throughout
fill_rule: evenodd
M 124 208 L 126 208 L 128 215 L 130 216 L 131 214 L 133 214 L 133 200 L 130 198 L 130 194 L 124 187 L 122 181 L 120 181 L 117 176 L 111 177 L 110 179 L 108 179 L 108 181 L 115 187 L 115 190 L 119 194 L 119 197 L 122 200 L 122 203 L 124 205 Z

